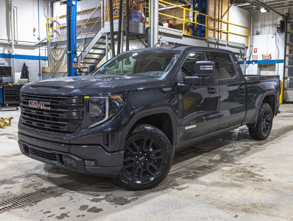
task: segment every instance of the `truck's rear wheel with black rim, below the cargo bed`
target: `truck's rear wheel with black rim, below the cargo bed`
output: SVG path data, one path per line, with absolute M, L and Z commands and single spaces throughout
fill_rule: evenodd
M 265 140 L 270 136 L 273 124 L 273 113 L 268 103 L 262 103 L 255 128 L 248 128 L 253 139 Z

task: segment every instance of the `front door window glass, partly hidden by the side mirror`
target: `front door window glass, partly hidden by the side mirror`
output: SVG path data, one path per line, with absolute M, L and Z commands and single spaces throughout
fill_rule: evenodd
M 178 73 L 178 80 L 183 81 L 183 77 L 192 77 L 195 74 L 195 63 L 197 61 L 205 61 L 206 56 L 202 51 L 192 52 L 185 59 Z

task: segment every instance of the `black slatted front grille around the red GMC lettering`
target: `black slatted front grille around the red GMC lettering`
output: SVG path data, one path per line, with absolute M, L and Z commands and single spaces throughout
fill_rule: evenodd
M 21 93 L 21 122 L 24 126 L 42 131 L 73 133 L 83 120 L 83 97 L 63 97 Z M 28 102 L 50 102 L 50 110 L 29 107 Z

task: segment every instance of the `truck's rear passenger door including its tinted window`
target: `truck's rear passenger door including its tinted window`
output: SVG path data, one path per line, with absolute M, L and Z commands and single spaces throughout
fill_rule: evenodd
M 217 129 L 240 124 L 246 114 L 246 86 L 241 68 L 228 52 L 208 53 L 209 60 L 215 63 L 215 80 L 219 85 L 220 119 Z

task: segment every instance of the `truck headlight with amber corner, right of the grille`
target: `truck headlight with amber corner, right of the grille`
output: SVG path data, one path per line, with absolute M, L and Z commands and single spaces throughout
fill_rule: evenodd
M 88 129 L 102 124 L 116 114 L 124 105 L 123 95 L 103 97 L 85 97 L 89 99 L 89 114 L 99 117 L 99 120 L 90 124 Z

